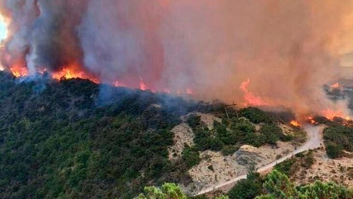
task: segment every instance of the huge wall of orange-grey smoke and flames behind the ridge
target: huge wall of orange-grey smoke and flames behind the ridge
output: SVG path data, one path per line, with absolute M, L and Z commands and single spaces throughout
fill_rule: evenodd
M 322 89 L 353 51 L 350 0 L 0 0 L 0 13 L 1 64 L 16 76 L 48 71 L 203 100 L 245 93 L 247 105 L 350 115 Z

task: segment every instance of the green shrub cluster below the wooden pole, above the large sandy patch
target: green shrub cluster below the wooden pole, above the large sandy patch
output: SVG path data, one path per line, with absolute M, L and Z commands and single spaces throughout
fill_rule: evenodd
M 263 124 L 261 130 L 257 132 L 255 125 L 247 118 L 223 118 L 221 123 L 214 121 L 214 132 L 205 127 L 199 117 L 192 115 L 188 119 L 189 122 L 195 129 L 194 142 L 200 151 L 222 150 L 223 154 L 229 154 L 233 151 L 231 146 L 234 148 L 242 144 L 251 144 L 259 147 L 266 143 L 276 144 L 278 140 L 292 139 L 292 136 L 284 135 L 282 129 L 274 123 Z M 226 147 L 222 149 L 225 145 Z

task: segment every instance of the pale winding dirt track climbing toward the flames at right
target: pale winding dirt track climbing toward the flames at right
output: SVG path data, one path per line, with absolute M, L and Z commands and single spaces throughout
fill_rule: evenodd
M 298 147 L 296 151 L 293 151 L 293 152 L 289 153 L 288 155 L 286 155 L 286 156 L 284 156 L 284 157 L 282 157 L 282 158 L 280 158 L 280 159 L 278 159 L 278 160 L 276 160 L 274 162 L 271 162 L 268 165 L 265 165 L 265 166 L 259 168 L 258 172 L 268 170 L 268 169 L 272 168 L 273 166 L 275 166 L 276 164 L 278 164 L 280 162 L 283 162 L 286 159 L 292 157 L 293 155 L 296 155 L 298 153 L 307 151 L 310 148 L 320 147 L 320 142 L 321 142 L 320 132 L 323 130 L 323 127 L 322 126 L 312 126 L 312 125 L 309 125 L 309 124 L 305 124 L 303 126 L 303 128 L 308 133 L 308 140 L 303 145 Z M 213 186 L 209 186 L 209 187 L 199 191 L 196 195 L 200 195 L 200 194 L 204 194 L 204 193 L 210 192 L 210 191 L 212 191 L 214 189 L 218 189 L 218 188 L 223 187 L 225 185 L 237 182 L 238 180 L 245 179 L 246 177 L 247 177 L 247 175 L 241 175 L 241 176 L 232 178 L 232 179 L 230 179 L 228 181 L 225 181 L 225 182 L 213 185 Z

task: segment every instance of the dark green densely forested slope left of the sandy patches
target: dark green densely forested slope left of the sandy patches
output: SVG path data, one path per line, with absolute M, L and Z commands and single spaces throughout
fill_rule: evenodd
M 130 198 L 187 181 L 167 160 L 170 129 L 219 105 L 163 93 L 0 73 L 0 197 Z M 179 166 L 176 166 L 178 164 Z

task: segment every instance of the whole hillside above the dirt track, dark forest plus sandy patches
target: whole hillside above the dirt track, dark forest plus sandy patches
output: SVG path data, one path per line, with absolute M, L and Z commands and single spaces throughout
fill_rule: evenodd
M 0 72 L 0 197 L 132 198 L 145 186 L 187 194 L 244 175 L 305 142 L 290 113 L 85 79 Z

